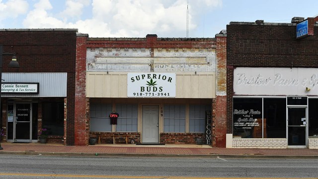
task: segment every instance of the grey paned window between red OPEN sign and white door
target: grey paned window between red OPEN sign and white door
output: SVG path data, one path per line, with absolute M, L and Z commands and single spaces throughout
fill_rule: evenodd
M 137 104 L 116 104 L 117 119 L 116 131 L 137 132 L 138 122 Z

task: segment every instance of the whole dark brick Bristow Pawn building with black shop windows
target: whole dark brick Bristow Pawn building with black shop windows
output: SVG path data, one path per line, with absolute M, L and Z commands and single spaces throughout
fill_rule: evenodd
M 296 22 L 227 25 L 227 147 L 317 148 L 318 26 L 308 26 L 296 39 Z

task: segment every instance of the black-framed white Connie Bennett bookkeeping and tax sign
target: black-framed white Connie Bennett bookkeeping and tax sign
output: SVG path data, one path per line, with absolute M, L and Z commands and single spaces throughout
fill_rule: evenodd
M 39 83 L 2 83 L 2 93 L 39 93 Z

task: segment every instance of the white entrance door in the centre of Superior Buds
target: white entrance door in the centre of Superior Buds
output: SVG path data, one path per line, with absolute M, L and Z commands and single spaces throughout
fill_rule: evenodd
M 159 105 L 143 105 L 143 143 L 159 143 Z

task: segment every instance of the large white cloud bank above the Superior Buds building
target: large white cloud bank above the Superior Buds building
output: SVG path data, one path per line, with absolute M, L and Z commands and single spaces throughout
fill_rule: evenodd
M 66 0 L 65 4 L 65 9 L 50 14 L 50 1 L 39 0 L 23 25 L 25 28 L 78 28 L 90 37 L 185 36 L 187 0 Z M 83 7 L 90 5 L 92 18 L 74 21 L 73 17 L 79 18 Z M 197 12 L 220 5 L 222 0 L 189 0 L 189 30 L 198 25 L 194 20 Z

